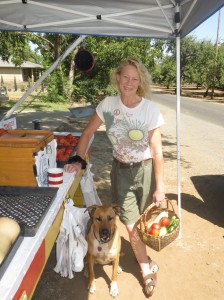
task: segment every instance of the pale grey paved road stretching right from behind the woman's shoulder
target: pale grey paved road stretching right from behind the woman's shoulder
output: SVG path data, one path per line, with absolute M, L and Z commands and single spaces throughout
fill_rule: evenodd
M 155 93 L 153 100 L 156 103 L 176 109 L 176 96 Z M 186 114 L 224 127 L 224 103 L 209 102 L 204 99 L 181 97 L 181 114 Z

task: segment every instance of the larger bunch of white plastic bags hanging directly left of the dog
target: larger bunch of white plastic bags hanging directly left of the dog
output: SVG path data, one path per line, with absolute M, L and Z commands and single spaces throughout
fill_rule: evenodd
M 72 279 L 73 272 L 81 272 L 84 268 L 84 257 L 88 249 L 85 236 L 89 219 L 86 208 L 75 207 L 72 199 L 67 200 L 56 240 L 57 264 L 54 268 L 62 277 Z

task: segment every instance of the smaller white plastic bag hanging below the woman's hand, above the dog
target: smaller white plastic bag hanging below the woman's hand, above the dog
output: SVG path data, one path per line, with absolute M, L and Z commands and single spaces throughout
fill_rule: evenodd
M 86 207 L 91 205 L 102 205 L 100 198 L 97 194 L 95 184 L 93 181 L 93 173 L 90 171 L 92 164 L 88 163 L 85 173 L 80 180 L 80 187 Z

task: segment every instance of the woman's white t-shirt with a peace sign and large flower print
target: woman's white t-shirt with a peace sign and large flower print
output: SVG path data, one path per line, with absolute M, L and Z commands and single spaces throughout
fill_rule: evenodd
M 113 156 L 121 162 L 140 162 L 151 158 L 149 131 L 164 124 L 158 107 L 148 99 L 134 108 L 126 107 L 119 96 L 106 97 L 96 112 L 106 125 Z

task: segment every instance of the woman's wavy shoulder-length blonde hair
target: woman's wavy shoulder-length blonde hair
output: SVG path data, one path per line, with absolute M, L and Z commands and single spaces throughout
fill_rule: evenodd
M 129 57 L 121 62 L 121 64 L 112 72 L 111 74 L 111 84 L 119 90 L 119 80 L 117 75 L 120 75 L 123 68 L 131 65 L 136 68 L 138 71 L 139 77 L 140 77 L 140 84 L 137 90 L 137 95 L 140 97 L 150 97 L 151 95 L 151 76 L 146 69 L 146 67 L 143 65 L 140 59 L 135 57 Z

